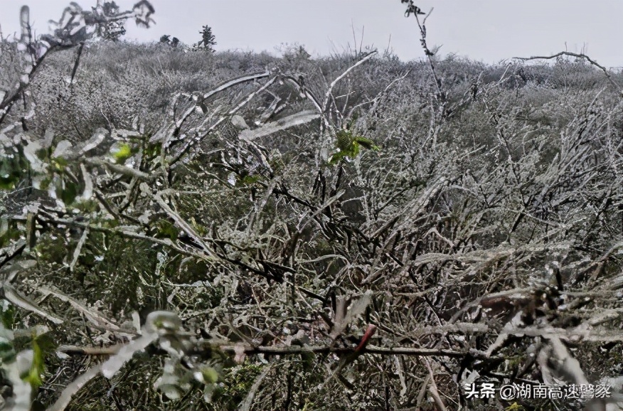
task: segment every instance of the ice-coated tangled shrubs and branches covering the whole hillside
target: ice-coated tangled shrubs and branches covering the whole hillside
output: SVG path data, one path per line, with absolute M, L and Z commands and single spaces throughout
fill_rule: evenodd
M 438 58 L 415 9 L 410 63 L 90 41 L 147 1 L 3 41 L 6 406 L 618 409 L 623 78 Z

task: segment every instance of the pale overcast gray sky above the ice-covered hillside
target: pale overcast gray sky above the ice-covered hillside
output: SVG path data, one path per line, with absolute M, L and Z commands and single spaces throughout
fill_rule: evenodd
M 117 0 L 129 9 L 136 0 Z M 67 0 L 0 0 L 4 36 L 19 29 L 19 9 L 31 7 L 39 33 L 58 20 Z M 95 0 L 77 0 L 83 7 Z M 398 0 L 152 0 L 156 26 L 128 23 L 127 38 L 157 41 L 163 34 L 184 43 L 199 40 L 201 26 L 213 28 L 217 50 L 267 50 L 280 43 L 300 43 L 312 55 L 343 50 L 353 40 L 403 60 L 422 58 L 415 18 L 405 18 Z M 621 0 L 422 0 L 423 11 L 435 7 L 427 21 L 429 46 L 487 63 L 514 56 L 550 55 L 582 48 L 607 67 L 623 66 Z

